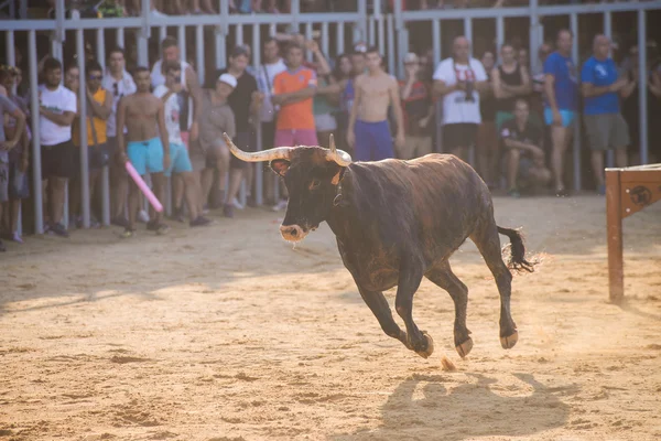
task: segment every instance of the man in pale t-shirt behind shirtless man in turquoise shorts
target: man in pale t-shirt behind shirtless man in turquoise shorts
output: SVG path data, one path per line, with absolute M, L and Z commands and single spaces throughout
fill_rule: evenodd
M 108 151 L 111 155 L 110 169 L 110 222 L 113 225 L 127 226 L 124 207 L 129 193 L 129 181 L 123 165 L 118 160 L 117 153 L 122 149 L 117 148 L 117 105 L 119 100 L 136 93 L 136 82 L 126 71 L 126 58 L 121 47 L 108 52 L 108 68 L 101 80 L 101 87 L 112 95 L 112 112 L 106 120 L 108 135 Z M 124 128 L 126 133 L 126 128 Z

